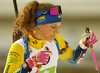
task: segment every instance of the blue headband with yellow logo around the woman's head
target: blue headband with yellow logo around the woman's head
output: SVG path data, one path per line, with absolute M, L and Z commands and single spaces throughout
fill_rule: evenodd
M 36 18 L 41 15 L 43 12 L 47 10 L 42 10 L 42 11 L 36 11 Z M 45 15 L 40 16 L 36 20 L 36 25 L 41 25 L 41 24 L 48 24 L 48 23 L 55 23 L 55 22 L 61 22 L 61 14 L 59 15 L 50 15 L 49 13 L 46 13 Z

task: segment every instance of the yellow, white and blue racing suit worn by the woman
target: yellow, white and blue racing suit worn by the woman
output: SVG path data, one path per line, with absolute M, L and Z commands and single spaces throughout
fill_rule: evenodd
M 42 66 L 39 73 L 45 73 L 45 71 L 56 73 L 58 58 L 68 61 L 73 65 L 79 64 L 87 51 L 87 49 L 82 49 L 80 45 L 75 49 L 71 49 L 59 34 L 51 42 L 37 40 L 28 35 L 27 39 L 24 39 L 24 37 L 20 38 L 10 47 L 3 73 L 28 73 L 27 71 L 22 71 L 22 64 L 27 58 L 38 51 L 44 50 L 45 46 L 49 48 L 53 55 L 50 58 L 50 62 Z M 31 73 L 35 73 L 36 69 L 36 67 L 32 68 Z

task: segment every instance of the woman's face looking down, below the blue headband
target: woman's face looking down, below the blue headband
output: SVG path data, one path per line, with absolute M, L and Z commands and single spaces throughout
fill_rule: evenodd
M 56 34 L 59 34 L 58 28 L 60 25 L 61 22 L 37 25 L 39 27 L 37 31 L 39 36 L 41 36 L 41 39 L 52 41 L 54 40 Z

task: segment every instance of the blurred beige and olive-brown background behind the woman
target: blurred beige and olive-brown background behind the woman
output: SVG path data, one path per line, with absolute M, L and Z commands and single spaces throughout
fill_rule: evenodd
M 18 10 L 32 0 L 17 0 Z M 62 25 L 59 28 L 61 36 L 69 42 L 71 48 L 76 48 L 85 27 L 89 27 L 97 36 L 94 45 L 97 64 L 100 69 L 100 0 L 37 0 L 51 2 L 62 6 Z M 0 0 L 0 73 L 3 72 L 7 53 L 13 42 L 12 33 L 16 20 L 13 0 Z M 57 73 L 96 73 L 90 49 L 83 61 L 78 65 L 58 60 Z

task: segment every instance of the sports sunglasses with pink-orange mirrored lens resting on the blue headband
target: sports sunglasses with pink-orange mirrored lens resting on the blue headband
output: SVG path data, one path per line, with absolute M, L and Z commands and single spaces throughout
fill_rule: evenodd
M 61 6 L 60 5 L 54 6 L 49 10 L 45 11 L 44 13 L 42 13 L 41 15 L 39 15 L 38 17 L 45 15 L 46 13 L 49 13 L 50 15 L 58 15 L 59 13 L 62 14 Z M 38 17 L 36 18 L 36 20 L 38 19 Z

